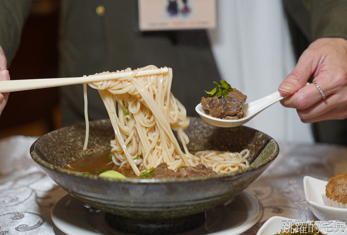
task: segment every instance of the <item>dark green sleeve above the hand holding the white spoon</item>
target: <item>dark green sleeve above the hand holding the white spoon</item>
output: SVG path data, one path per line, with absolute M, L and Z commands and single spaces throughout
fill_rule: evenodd
M 311 0 L 310 12 L 313 40 L 322 37 L 347 39 L 347 0 Z

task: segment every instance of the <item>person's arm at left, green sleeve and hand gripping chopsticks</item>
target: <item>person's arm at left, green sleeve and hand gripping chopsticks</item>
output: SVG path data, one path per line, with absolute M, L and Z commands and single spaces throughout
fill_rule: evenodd
M 8 64 L 20 43 L 20 35 L 32 0 L 0 0 L 0 80 L 9 80 Z M 9 93 L 0 93 L 0 115 Z

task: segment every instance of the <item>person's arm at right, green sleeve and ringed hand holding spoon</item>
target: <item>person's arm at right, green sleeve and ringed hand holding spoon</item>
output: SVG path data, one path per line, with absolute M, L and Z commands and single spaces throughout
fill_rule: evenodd
M 311 2 L 314 42 L 300 56 L 278 91 L 305 123 L 347 118 L 347 1 Z M 305 86 L 307 80 L 313 82 Z M 323 94 L 319 90 L 321 88 Z M 323 99 L 325 96 L 325 99 Z

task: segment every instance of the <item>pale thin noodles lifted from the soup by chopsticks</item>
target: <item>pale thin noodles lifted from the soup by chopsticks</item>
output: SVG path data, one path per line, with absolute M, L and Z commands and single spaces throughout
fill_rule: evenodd
M 129 77 L 88 83 L 98 89 L 115 131 L 115 139 L 110 142 L 112 161 L 119 167 L 129 164 L 138 176 L 163 162 L 174 171 L 181 166 L 200 163 L 211 166 L 217 173 L 248 167 L 248 150 L 189 153 L 189 138 L 184 132 L 189 118 L 185 107 L 170 92 L 172 70 L 169 68 L 165 74 L 136 76 L 138 71 L 151 69 L 157 67 L 149 65 L 134 70 Z M 131 71 L 128 68 L 116 73 Z M 177 132 L 184 152 L 172 130 Z

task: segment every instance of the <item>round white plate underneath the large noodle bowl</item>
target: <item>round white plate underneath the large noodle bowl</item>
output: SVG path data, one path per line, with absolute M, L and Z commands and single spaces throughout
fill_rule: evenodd
M 124 235 L 108 227 L 104 211 L 94 211 L 69 194 L 52 208 L 53 223 L 67 235 Z M 229 204 L 206 211 L 206 221 L 185 235 L 239 235 L 251 228 L 261 216 L 259 201 L 247 191 L 241 192 Z

